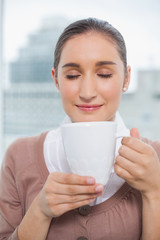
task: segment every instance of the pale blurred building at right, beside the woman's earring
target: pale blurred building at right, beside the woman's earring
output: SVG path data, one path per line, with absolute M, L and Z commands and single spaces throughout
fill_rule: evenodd
M 129 128 L 140 134 L 160 139 L 160 70 L 139 70 L 137 91 L 124 94 L 120 113 Z

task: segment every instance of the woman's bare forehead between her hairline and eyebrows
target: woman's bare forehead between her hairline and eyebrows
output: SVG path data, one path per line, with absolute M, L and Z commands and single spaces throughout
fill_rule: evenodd
M 60 63 L 93 59 L 120 60 L 117 46 L 111 38 L 97 32 L 75 35 L 64 44 Z

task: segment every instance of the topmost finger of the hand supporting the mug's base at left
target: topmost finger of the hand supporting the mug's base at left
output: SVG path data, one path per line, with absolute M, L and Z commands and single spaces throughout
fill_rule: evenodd
M 95 184 L 95 178 L 90 176 L 79 176 L 76 174 L 68 174 L 61 172 L 52 173 L 53 179 L 58 183 L 71 185 L 92 185 Z

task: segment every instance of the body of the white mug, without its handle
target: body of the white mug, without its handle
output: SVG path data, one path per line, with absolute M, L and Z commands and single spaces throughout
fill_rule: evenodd
M 106 185 L 114 164 L 116 128 L 112 121 L 63 124 L 61 134 L 71 172 Z

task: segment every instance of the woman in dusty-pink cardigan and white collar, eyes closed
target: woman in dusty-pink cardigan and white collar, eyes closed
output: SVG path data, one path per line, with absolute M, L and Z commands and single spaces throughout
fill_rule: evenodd
M 117 121 L 131 69 L 121 34 L 84 19 L 60 36 L 52 77 L 67 121 Z M 70 173 L 60 130 L 20 139 L 6 153 L 0 178 L 0 239 L 160 239 L 160 143 L 133 128 L 118 144 L 110 188 Z M 119 177 L 118 177 L 119 176 Z

